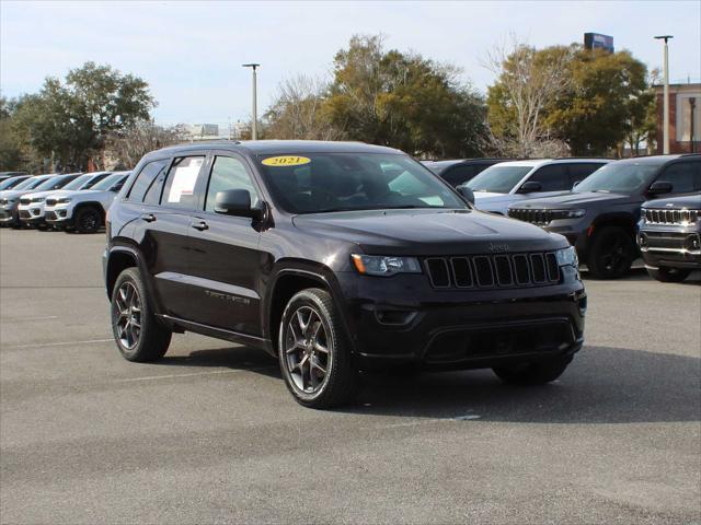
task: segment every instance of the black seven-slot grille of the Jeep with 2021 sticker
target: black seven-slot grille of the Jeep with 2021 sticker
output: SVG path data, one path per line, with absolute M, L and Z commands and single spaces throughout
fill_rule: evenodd
M 434 288 L 519 288 L 560 281 L 553 252 L 536 254 L 428 257 L 426 273 Z

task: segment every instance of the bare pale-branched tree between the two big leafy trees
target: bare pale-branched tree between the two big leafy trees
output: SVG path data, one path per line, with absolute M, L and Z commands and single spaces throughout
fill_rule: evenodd
M 485 67 L 497 75 L 487 90 L 489 124 L 503 153 L 533 156 L 552 142 L 548 106 L 572 83 L 574 52 L 574 46 L 539 51 L 513 36 L 487 55 Z

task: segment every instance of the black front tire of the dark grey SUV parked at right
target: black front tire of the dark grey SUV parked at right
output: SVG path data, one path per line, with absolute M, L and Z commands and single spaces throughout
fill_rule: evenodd
M 605 226 L 595 233 L 587 266 L 598 279 L 618 279 L 630 271 L 634 259 L 633 237 L 622 228 Z

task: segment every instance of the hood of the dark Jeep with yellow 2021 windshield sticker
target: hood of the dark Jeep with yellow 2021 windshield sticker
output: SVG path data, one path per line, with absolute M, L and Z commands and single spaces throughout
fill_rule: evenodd
M 314 237 L 357 244 L 376 255 L 464 255 L 533 252 L 567 246 L 560 235 L 505 217 L 464 210 L 371 210 L 292 219 Z

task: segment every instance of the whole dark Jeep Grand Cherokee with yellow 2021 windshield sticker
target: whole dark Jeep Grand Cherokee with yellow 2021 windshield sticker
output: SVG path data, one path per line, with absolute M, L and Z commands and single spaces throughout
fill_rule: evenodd
M 474 210 L 406 154 L 254 141 L 146 155 L 108 212 L 112 327 L 130 361 L 192 330 L 266 350 L 301 405 L 359 370 L 492 368 L 542 384 L 583 343 L 586 295 L 558 234 Z

